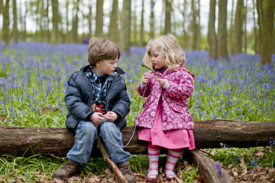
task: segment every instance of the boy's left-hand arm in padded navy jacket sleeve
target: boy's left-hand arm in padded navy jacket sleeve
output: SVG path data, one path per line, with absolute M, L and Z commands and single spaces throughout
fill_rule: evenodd
M 82 101 L 82 95 L 74 75 L 76 75 L 76 73 L 72 74 L 67 82 L 64 97 L 65 104 L 69 113 L 74 115 L 74 117 L 80 120 L 90 121 L 89 117 L 94 113 L 94 111 L 90 106 L 87 106 L 87 104 Z

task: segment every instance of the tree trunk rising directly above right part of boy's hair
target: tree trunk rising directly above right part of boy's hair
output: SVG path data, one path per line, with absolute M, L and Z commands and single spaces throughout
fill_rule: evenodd
M 113 10 L 110 17 L 109 37 L 115 44 L 119 43 L 120 36 L 118 32 L 118 0 L 113 0 Z

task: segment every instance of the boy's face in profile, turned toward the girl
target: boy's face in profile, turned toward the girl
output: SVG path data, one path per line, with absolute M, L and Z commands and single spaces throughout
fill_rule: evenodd
M 101 60 L 97 62 L 95 68 L 96 75 L 112 75 L 115 68 L 118 67 L 116 62 L 118 62 L 118 58 L 115 58 L 115 60 Z

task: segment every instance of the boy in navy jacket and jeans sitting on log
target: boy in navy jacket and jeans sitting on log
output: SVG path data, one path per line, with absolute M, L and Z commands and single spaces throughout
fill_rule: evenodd
M 54 171 L 52 177 L 65 178 L 78 172 L 80 163 L 89 160 L 98 128 L 113 162 L 126 180 L 135 182 L 128 161 L 130 153 L 122 148 L 120 132 L 126 126 L 131 104 L 120 77 L 124 71 L 117 66 L 120 50 L 107 38 L 95 37 L 89 40 L 88 51 L 89 65 L 72 73 L 66 86 L 66 127 L 76 132 L 74 146 L 67 154 L 67 164 Z

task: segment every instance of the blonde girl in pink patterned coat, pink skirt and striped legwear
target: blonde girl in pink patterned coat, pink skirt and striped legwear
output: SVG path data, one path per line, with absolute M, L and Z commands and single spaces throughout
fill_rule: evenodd
M 195 149 L 187 101 L 194 90 L 194 75 L 184 68 L 184 51 L 172 34 L 150 40 L 146 49 L 143 62 L 160 78 L 153 71 L 142 75 L 137 91 L 147 99 L 135 124 L 140 127 L 139 140 L 148 141 L 147 180 L 157 180 L 160 147 L 168 149 L 164 173 L 172 179 L 182 149 Z

